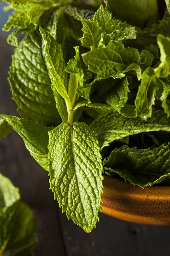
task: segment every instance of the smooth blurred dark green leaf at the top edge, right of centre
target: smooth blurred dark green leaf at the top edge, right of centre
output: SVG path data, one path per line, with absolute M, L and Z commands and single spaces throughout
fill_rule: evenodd
M 144 27 L 158 21 L 158 6 L 156 0 L 104 0 L 106 7 L 113 15 L 128 23 Z

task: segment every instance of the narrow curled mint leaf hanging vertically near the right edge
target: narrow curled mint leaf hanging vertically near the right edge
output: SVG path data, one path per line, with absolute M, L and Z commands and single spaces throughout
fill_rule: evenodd
M 162 84 L 160 79 L 156 78 L 153 68 L 148 67 L 142 74 L 142 81 L 135 100 L 137 116 L 140 116 L 144 120 L 152 116 L 152 106 L 155 104 L 155 96 L 161 89 Z

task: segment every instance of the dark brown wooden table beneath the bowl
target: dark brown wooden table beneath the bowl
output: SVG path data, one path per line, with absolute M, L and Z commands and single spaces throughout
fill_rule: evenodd
M 0 113 L 18 115 L 7 81 L 13 47 L 0 38 Z M 39 244 L 34 256 L 170 256 L 170 227 L 120 221 L 102 213 L 87 234 L 62 214 L 49 190 L 48 173 L 12 131 L 0 141 L 0 172 L 20 188 L 35 213 Z

